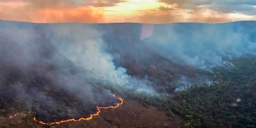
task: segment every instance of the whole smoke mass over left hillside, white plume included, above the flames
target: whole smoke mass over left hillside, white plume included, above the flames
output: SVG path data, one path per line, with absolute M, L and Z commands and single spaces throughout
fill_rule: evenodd
M 1 22 L 0 59 L 7 73 L 0 73 L 0 87 L 17 88 L 15 83 L 20 83 L 23 93 L 13 97 L 25 102 L 17 110 L 32 110 L 38 120 L 81 118 L 95 113 L 96 106 L 117 104 L 118 99 L 105 87 L 158 95 L 149 81 L 133 78 L 125 68 L 115 66 L 106 50 L 109 47 L 93 25 Z M 5 82 L 9 78 L 13 79 Z M 3 115 L 8 113 L 12 110 Z

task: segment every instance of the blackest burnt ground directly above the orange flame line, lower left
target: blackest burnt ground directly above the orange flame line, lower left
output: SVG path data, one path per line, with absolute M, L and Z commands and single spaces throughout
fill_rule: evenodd
M 9 117 L 23 111 L 33 112 L 36 120 L 53 123 L 67 119 L 88 118 L 90 114 L 97 112 L 96 106 L 116 106 L 121 102 L 112 95 L 105 94 L 99 88 L 94 89 L 92 96 L 83 97 L 93 98 L 94 102 L 90 100 L 85 102 L 67 90 L 68 88 L 63 88 L 61 85 L 64 84 L 59 81 L 60 79 L 54 77 L 61 75 L 50 72 L 53 69 L 49 68 L 52 67 L 47 67 L 47 64 L 17 67 L 9 62 L 1 63 L 0 115 Z M 38 69 L 45 70 L 47 73 L 38 71 Z M 47 74 L 50 78 L 46 77 Z M 69 79 L 71 78 L 67 80 Z M 76 85 L 73 84 L 73 86 Z

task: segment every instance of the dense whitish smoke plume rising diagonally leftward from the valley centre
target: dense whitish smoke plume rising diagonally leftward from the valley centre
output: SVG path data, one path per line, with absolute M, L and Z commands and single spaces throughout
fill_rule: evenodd
M 102 40 L 102 34 L 93 26 L 51 24 L 50 28 L 53 28 L 51 34 L 54 35 L 51 42 L 74 64 L 90 72 L 89 76 L 95 81 L 118 90 L 136 89 L 140 93 L 156 95 L 147 80 L 136 80 L 126 74 L 125 68 L 115 66 L 114 57 L 107 52 L 109 47 Z

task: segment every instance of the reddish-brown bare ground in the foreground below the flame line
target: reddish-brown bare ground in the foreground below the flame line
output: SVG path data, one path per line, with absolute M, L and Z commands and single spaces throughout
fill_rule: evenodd
M 33 121 L 33 116 L 17 115 L 14 118 L 0 118 L 0 128 L 133 128 L 137 126 L 160 126 L 162 128 L 182 127 L 178 116 L 170 118 L 156 107 L 145 107 L 142 104 L 124 99 L 123 105 L 115 109 L 101 109 L 99 116 L 79 122 L 67 122 L 57 125 L 42 125 Z

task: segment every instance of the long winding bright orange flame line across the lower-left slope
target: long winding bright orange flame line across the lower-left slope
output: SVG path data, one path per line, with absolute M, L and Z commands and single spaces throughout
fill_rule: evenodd
M 113 95 L 113 96 L 116 97 L 115 95 Z M 54 122 L 54 123 L 44 123 L 43 121 L 37 121 L 36 118 L 34 118 L 34 121 L 37 121 L 37 122 L 39 122 L 41 124 L 44 124 L 44 125 L 53 125 L 53 124 L 60 124 L 60 123 L 69 122 L 69 121 L 89 120 L 89 119 L 92 119 L 92 116 L 99 115 L 101 108 L 102 109 L 117 108 L 118 106 L 123 104 L 123 99 L 121 99 L 121 98 L 118 98 L 118 99 L 121 100 L 121 103 L 120 104 L 118 103 L 116 106 L 109 106 L 109 107 L 99 107 L 99 106 L 97 106 L 97 112 L 95 114 L 91 114 L 90 117 L 88 117 L 88 118 L 80 118 L 78 120 L 76 120 L 76 119 L 67 119 L 67 120 L 64 120 L 64 121 L 59 121 L 59 122 Z

